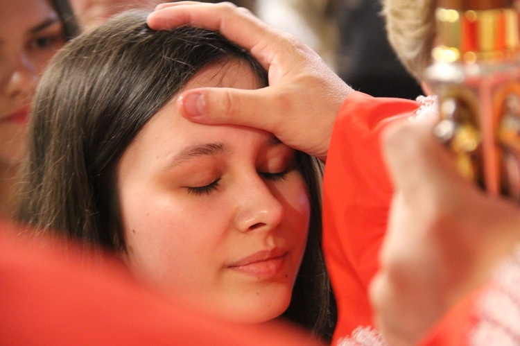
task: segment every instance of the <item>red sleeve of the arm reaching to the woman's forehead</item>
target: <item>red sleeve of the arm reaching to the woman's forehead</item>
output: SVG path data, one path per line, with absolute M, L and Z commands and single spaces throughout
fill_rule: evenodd
M 378 268 L 392 186 L 379 135 L 386 123 L 402 121 L 415 101 L 350 94 L 334 126 L 324 173 L 323 240 L 338 302 L 333 344 L 358 326 L 370 326 L 367 287 Z

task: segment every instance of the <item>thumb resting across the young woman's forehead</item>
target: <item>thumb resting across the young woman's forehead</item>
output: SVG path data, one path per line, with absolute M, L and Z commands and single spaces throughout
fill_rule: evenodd
M 182 116 L 197 123 L 233 124 L 275 132 L 280 116 L 271 101 L 274 100 L 268 87 L 254 90 L 205 87 L 183 92 L 177 98 L 177 108 Z

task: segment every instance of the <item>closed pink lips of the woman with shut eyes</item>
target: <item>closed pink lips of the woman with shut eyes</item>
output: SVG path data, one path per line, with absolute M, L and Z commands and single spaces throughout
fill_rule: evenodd
M 284 268 L 287 253 L 287 250 L 279 248 L 261 250 L 230 264 L 227 268 L 258 279 L 270 279 Z

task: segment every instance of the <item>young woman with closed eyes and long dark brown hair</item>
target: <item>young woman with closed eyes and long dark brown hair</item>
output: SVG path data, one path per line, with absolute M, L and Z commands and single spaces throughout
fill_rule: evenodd
M 219 34 L 153 31 L 141 12 L 73 40 L 37 92 L 19 220 L 117 251 L 218 318 L 329 336 L 320 164 L 269 132 L 182 118 L 179 92 L 202 85 L 267 76 Z

